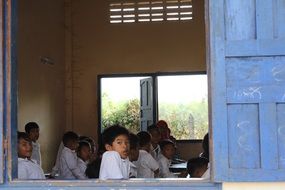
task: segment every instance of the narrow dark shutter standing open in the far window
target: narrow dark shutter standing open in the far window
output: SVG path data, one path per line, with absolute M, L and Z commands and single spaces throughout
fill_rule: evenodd
M 147 130 L 153 124 L 153 80 L 146 78 L 140 80 L 140 128 Z

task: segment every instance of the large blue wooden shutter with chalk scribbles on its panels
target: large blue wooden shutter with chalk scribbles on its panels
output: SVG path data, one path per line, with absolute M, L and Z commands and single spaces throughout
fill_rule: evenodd
M 285 180 L 285 0 L 209 0 L 212 179 Z

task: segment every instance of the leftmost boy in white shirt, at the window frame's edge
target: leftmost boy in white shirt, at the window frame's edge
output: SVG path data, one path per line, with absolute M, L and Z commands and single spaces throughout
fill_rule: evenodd
M 18 179 L 45 179 L 44 172 L 35 160 L 31 160 L 32 145 L 29 136 L 18 132 Z

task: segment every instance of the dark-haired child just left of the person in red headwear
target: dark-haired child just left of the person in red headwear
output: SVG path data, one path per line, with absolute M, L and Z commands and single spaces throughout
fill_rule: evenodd
M 161 140 L 160 131 L 156 125 L 150 125 L 147 127 L 147 132 L 151 135 L 150 154 L 155 160 L 158 160 L 158 155 L 160 154 L 159 142 Z

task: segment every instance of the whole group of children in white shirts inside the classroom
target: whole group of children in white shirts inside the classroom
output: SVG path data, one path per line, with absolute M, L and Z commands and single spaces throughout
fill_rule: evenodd
M 166 126 L 166 127 L 165 127 Z M 206 136 L 205 136 L 206 137 Z M 41 168 L 39 126 L 30 122 L 25 132 L 18 132 L 18 178 L 46 179 Z M 55 166 L 49 177 L 58 179 L 129 179 L 205 177 L 209 173 L 208 139 L 205 151 L 187 163 L 187 172 L 179 175 L 169 169 L 175 155 L 175 138 L 170 136 L 167 123 L 159 121 L 138 134 L 120 125 L 106 128 L 102 133 L 101 148 L 93 139 L 79 137 L 69 131 L 63 135 Z

